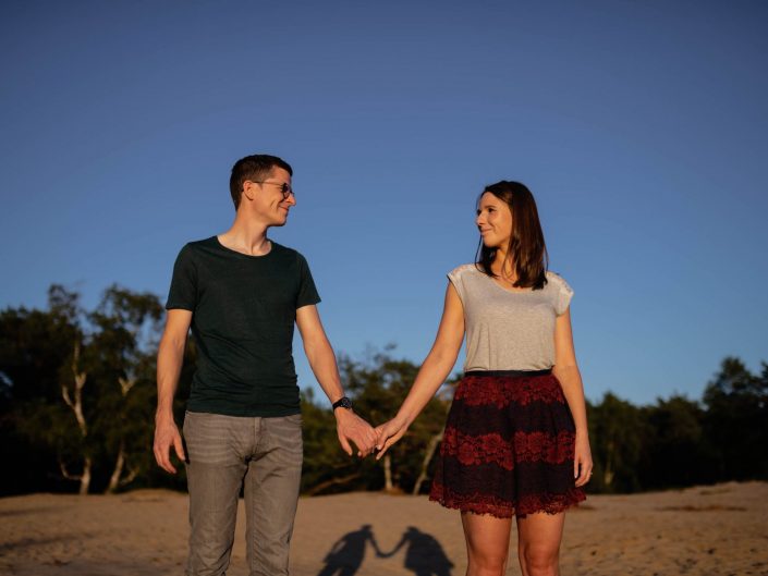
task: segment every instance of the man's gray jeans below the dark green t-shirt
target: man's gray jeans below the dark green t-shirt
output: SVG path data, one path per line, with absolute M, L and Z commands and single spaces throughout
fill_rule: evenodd
M 188 576 L 227 572 L 240 489 L 245 492 L 251 576 L 288 574 L 302 476 L 302 417 L 248 418 L 187 412 Z

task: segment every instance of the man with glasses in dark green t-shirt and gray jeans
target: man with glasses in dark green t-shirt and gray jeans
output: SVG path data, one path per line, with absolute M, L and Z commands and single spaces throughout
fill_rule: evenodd
M 175 473 L 185 461 L 190 491 L 187 575 L 221 575 L 229 565 L 241 487 L 245 492 L 251 575 L 288 574 L 302 467 L 293 324 L 328 395 L 343 450 L 376 443 L 344 396 L 304 257 L 267 237 L 296 205 L 293 170 L 280 158 L 248 156 L 232 168 L 232 228 L 182 248 L 173 269 L 157 361 L 155 457 Z M 172 403 L 192 327 L 199 357 L 182 445 Z

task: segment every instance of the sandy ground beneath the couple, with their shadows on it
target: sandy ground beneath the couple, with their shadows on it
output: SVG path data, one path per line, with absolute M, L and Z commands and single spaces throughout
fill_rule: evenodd
M 181 575 L 186 512 L 184 494 L 155 490 L 0 499 L 0 574 Z M 243 538 L 241 502 L 231 576 L 247 574 Z M 520 574 L 512 538 L 508 574 Z M 768 483 L 590 497 L 568 515 L 561 566 L 563 575 L 768 575 Z M 424 497 L 300 501 L 294 576 L 461 576 L 465 568 L 459 514 Z

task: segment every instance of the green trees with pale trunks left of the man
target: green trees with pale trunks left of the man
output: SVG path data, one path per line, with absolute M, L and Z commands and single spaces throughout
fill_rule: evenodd
M 0 493 L 68 490 L 113 492 L 183 486 L 154 464 L 155 357 L 162 307 L 157 296 L 119 286 L 95 310 L 62 286 L 47 310 L 0 312 Z M 188 346 L 174 406 L 179 421 L 194 369 Z

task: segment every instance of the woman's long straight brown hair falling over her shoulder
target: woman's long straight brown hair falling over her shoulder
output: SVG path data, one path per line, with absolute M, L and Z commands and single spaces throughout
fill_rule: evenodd
M 510 234 L 510 245 L 507 250 L 508 258 L 514 265 L 517 280 L 515 287 L 531 287 L 540 290 L 547 283 L 547 266 L 549 256 L 547 245 L 544 242 L 544 232 L 538 219 L 536 200 L 531 191 L 520 182 L 502 180 L 490 186 L 486 186 L 477 197 L 477 207 L 486 192 L 502 200 L 509 206 L 512 212 L 512 234 Z M 477 247 L 475 266 L 481 272 L 491 278 L 497 274 L 491 270 L 491 264 L 496 258 L 497 248 L 489 248 L 483 244 Z

